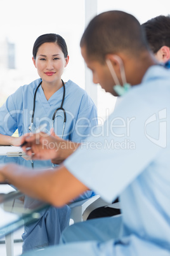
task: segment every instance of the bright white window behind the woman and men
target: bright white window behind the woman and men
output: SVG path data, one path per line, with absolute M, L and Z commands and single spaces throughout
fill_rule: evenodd
M 32 64 L 32 46 L 38 36 L 49 32 L 60 34 L 67 42 L 70 62 L 63 80 L 70 79 L 85 89 L 84 60 L 79 47 L 85 26 L 85 3 L 86 0 L 3 1 L 0 16 L 0 105 L 18 87 L 38 78 Z M 167 15 L 169 0 L 162 0 L 161 3 L 147 0 L 98 0 L 97 4 L 98 13 L 107 10 L 127 11 L 143 23 L 157 15 Z M 100 86 L 96 91 L 98 115 L 105 119 L 114 110 L 116 98 L 105 94 Z

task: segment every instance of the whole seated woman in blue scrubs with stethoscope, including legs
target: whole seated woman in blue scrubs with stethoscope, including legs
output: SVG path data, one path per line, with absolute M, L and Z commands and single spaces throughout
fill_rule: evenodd
M 23 134 L 35 132 L 42 124 L 46 124 L 45 132 L 53 127 L 61 138 L 82 142 L 97 125 L 96 107 L 78 85 L 62 80 L 69 62 L 65 40 L 57 34 L 39 36 L 34 43 L 32 60 L 40 78 L 18 88 L 0 108 L 0 144 L 19 146 Z M 18 138 L 12 136 L 16 129 Z M 42 165 L 44 167 L 44 162 Z M 52 167 L 50 162 L 48 165 Z M 92 191 L 87 191 L 79 200 L 92 195 Z M 33 199 L 25 197 L 25 207 L 32 203 L 35 203 Z M 61 232 L 69 225 L 69 218 L 67 205 L 42 211 L 36 223 L 25 226 L 23 252 L 58 243 Z

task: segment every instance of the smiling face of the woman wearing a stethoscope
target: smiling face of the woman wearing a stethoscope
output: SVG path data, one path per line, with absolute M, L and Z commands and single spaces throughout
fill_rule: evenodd
M 32 57 L 32 60 L 42 82 L 55 83 L 61 80 L 63 69 L 69 62 L 69 56 L 65 58 L 56 43 L 43 43 L 37 50 L 36 59 Z

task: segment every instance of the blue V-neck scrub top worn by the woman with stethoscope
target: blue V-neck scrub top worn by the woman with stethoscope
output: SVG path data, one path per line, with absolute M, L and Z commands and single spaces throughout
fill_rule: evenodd
M 34 93 L 41 82 L 41 78 L 29 85 L 20 87 L 14 94 L 8 97 L 6 103 L 0 108 L 0 133 L 12 135 L 18 129 L 19 136 L 29 132 L 31 123 Z M 52 127 L 52 117 L 56 108 L 62 103 L 63 87 L 50 97 L 44 96 L 40 86 L 36 94 L 36 109 L 34 113 L 34 125 L 46 123 L 46 131 Z M 89 136 L 91 128 L 97 125 L 96 106 L 88 94 L 72 81 L 65 83 L 65 100 L 63 108 L 66 111 L 67 122 L 63 139 L 81 142 Z M 54 124 L 55 133 L 62 136 L 63 112 L 58 111 Z

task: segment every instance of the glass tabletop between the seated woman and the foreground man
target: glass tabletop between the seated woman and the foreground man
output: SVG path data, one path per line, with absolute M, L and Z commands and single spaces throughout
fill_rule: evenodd
M 0 165 L 8 163 L 16 163 L 31 168 L 51 168 L 51 161 L 43 160 L 26 160 L 24 156 L 9 157 L 0 155 Z M 48 208 L 49 205 L 30 199 L 30 205 L 24 204 L 24 195 L 12 185 L 0 183 L 0 238 L 20 229 L 24 224 L 33 222 L 41 217 L 39 212 Z

